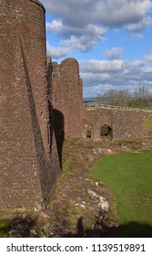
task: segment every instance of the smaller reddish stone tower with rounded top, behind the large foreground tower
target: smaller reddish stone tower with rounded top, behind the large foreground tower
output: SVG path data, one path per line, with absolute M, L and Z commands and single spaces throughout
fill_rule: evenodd
M 52 104 L 57 133 L 66 138 L 81 138 L 83 91 L 76 59 L 50 64 Z

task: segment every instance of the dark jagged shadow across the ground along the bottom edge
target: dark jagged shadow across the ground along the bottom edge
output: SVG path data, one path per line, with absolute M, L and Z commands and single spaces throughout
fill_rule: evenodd
M 63 225 L 62 225 L 63 224 Z M 36 220 L 26 216 L 16 217 L 14 219 L 3 219 L 0 221 L 0 237 L 41 237 L 34 233 Z M 69 223 L 65 220 L 56 223 L 56 230 L 50 238 L 152 238 L 152 226 L 140 224 L 135 221 L 127 225 L 107 225 L 102 219 L 97 219 L 93 229 L 85 229 L 83 217 L 77 219 L 76 233 L 68 231 Z

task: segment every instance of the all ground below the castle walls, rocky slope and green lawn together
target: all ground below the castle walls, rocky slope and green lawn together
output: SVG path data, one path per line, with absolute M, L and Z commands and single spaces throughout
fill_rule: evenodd
M 152 151 L 141 151 L 138 154 L 122 153 L 124 149 L 133 152 L 142 146 L 152 148 L 152 142 L 149 139 L 143 144 L 140 141 L 65 141 L 62 174 L 57 180 L 56 189 L 46 210 L 36 213 L 23 209 L 0 211 L 0 237 L 116 237 L 115 209 L 110 216 L 102 212 L 98 198 L 90 197 L 90 190 L 106 197 L 110 206 L 113 205 L 113 201 L 118 202 L 117 217 L 121 222 L 121 236 L 127 236 L 130 229 L 134 229 L 137 230 L 137 235 L 147 236 L 148 232 L 148 236 L 152 237 Z M 106 156 L 109 152 L 116 152 L 117 155 Z M 118 152 L 121 152 L 120 155 Z M 106 187 L 90 178 L 93 166 L 95 168 L 92 176 L 101 179 L 106 187 L 113 191 L 115 200 Z M 109 185 L 106 179 L 109 180 Z M 110 187 L 111 183 L 116 186 L 116 195 L 113 187 Z M 101 215 L 104 215 L 103 219 Z M 144 232 L 146 234 L 143 234 Z M 132 237 L 137 235 L 134 233 Z

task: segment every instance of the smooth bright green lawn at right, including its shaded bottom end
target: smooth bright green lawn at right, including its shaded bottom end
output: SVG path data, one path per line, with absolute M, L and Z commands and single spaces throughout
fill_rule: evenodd
M 120 235 L 152 236 L 152 151 L 103 158 L 91 176 L 102 180 L 117 204 Z

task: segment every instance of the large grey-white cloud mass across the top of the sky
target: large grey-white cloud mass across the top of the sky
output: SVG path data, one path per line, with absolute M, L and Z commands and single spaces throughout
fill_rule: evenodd
M 150 0 L 41 0 L 53 21 L 47 33 L 61 37 L 63 48 L 86 51 L 105 39 L 108 28 L 126 27 L 134 37 L 152 25 Z M 136 33 L 136 34 L 135 34 Z M 120 56 L 119 56 L 120 58 Z

